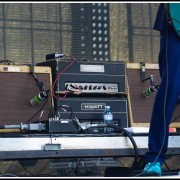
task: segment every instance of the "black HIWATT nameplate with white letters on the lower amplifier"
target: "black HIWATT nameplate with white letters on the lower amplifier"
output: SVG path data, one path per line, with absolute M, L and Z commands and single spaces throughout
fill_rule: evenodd
M 105 103 L 82 103 L 81 110 L 104 110 Z

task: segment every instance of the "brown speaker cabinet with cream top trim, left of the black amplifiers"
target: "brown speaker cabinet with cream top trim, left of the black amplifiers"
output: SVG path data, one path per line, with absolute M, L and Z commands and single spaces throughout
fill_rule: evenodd
M 48 120 L 48 108 L 53 104 L 50 86 L 51 68 L 34 67 L 37 80 L 43 83 L 45 90 L 50 90 L 47 103 L 41 102 L 34 107 L 30 105 L 30 100 L 40 92 L 40 89 L 30 72 L 30 66 L 27 65 L 0 65 L 0 125 L 19 125 Z M 40 109 L 44 104 L 42 114 Z

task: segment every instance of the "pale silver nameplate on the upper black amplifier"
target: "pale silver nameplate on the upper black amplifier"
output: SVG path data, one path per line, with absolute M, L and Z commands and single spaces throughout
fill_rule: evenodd
M 80 64 L 81 72 L 104 72 L 104 65 L 84 65 Z

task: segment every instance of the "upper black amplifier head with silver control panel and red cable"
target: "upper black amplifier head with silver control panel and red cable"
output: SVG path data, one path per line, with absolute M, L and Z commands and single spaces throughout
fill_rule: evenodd
M 37 63 L 49 66 L 55 94 L 126 94 L 126 65 L 123 61 L 75 61 L 54 59 Z

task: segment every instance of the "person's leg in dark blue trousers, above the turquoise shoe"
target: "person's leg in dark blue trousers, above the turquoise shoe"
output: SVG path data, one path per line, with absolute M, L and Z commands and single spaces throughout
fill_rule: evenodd
M 153 106 L 149 151 L 145 154 L 145 161 L 156 161 L 162 165 L 168 147 L 169 123 L 180 92 L 180 38 L 169 32 L 167 40 L 167 34 L 161 33 L 160 47 L 159 68 L 162 81 Z

